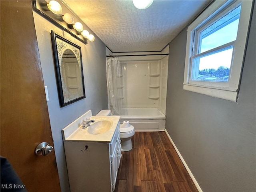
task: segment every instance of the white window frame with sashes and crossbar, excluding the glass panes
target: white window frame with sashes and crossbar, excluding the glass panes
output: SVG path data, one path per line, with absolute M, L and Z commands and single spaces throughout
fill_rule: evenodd
M 236 40 L 212 49 L 214 51 L 218 51 L 220 49 L 225 49 L 226 47 L 233 46 L 231 60 L 232 63 L 230 66 L 228 82 L 192 80 L 192 73 L 196 72 L 195 70 L 193 70 L 196 64 L 192 64 L 192 60 L 194 58 L 198 58 L 199 56 L 205 56 L 206 54 L 210 54 L 213 52 L 212 50 L 208 50 L 206 52 L 195 55 L 195 53 L 198 52 L 199 49 L 200 32 L 202 32 L 205 28 L 209 26 L 209 24 L 211 24 L 215 20 L 222 18 L 227 12 L 230 12 L 230 10 L 234 10 L 234 7 L 238 7 L 240 4 L 241 11 Z M 183 82 L 184 90 L 236 102 L 239 90 L 240 75 L 244 60 L 244 53 L 247 44 L 251 14 L 252 0 L 217 0 L 213 2 L 198 18 L 196 18 L 196 20 L 194 20 L 194 22 L 192 22 L 190 26 L 188 26 Z

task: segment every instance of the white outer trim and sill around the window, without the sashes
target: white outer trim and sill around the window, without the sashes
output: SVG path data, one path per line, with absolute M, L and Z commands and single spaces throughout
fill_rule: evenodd
M 233 64 L 230 68 L 230 79 L 229 82 L 202 82 L 190 80 L 191 70 L 191 56 L 193 46 L 193 35 L 194 30 L 200 28 L 206 24 L 214 16 L 222 12 L 223 8 L 235 2 L 235 4 L 241 3 L 241 12 L 237 38 L 234 46 Z M 252 0 L 246 1 L 231 1 L 231 0 L 216 0 L 210 5 L 190 26 L 188 26 L 187 33 L 187 44 L 186 44 L 186 59 L 185 59 L 185 70 L 184 70 L 184 82 L 183 89 L 197 92 L 200 94 L 209 95 L 216 98 L 222 98 L 236 102 L 237 94 L 240 83 L 240 75 L 244 60 L 244 51 L 246 48 L 246 40 L 248 34 L 248 28 L 250 24 Z M 216 11 L 217 10 L 217 11 Z M 218 12 L 216 14 L 216 12 Z

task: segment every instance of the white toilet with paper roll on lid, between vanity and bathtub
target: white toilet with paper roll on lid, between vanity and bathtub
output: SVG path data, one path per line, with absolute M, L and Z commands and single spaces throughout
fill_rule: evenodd
M 110 110 L 101 110 L 96 116 L 110 116 Z M 124 121 L 120 124 L 120 138 L 121 138 L 121 150 L 130 151 L 132 149 L 132 136 L 134 136 L 134 126 L 130 125 L 128 121 Z

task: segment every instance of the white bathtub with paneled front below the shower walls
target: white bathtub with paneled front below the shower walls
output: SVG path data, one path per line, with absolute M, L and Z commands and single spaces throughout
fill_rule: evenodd
M 165 115 L 158 108 L 124 108 L 120 116 L 120 124 L 123 121 L 129 121 L 135 131 L 164 131 L 165 129 Z

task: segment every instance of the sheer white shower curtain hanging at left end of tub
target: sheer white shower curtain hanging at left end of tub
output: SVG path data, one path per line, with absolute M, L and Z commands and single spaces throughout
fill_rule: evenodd
M 122 68 L 119 58 L 107 60 L 108 108 L 115 115 L 121 115 L 122 106 Z

